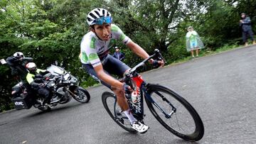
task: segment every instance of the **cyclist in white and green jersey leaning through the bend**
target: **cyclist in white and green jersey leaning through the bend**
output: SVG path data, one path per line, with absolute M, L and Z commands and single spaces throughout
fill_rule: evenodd
M 117 25 L 112 23 L 112 16 L 106 9 L 97 8 L 90 11 L 87 15 L 87 23 L 90 26 L 90 32 L 83 36 L 80 43 L 82 67 L 94 79 L 112 89 L 114 94 L 117 95 L 117 103 L 129 118 L 132 128 L 139 133 L 146 133 L 149 126 L 140 123 L 132 116 L 124 96 L 124 92 L 132 92 L 131 87 L 110 76 L 110 74 L 116 74 L 122 77 L 130 69 L 123 62 L 109 54 L 110 42 L 114 39 L 121 40 L 122 43 L 143 59 L 146 59 L 149 55 L 137 43 L 134 43 L 127 35 L 124 35 Z M 151 59 L 149 62 L 154 65 L 164 65 L 163 61 Z

